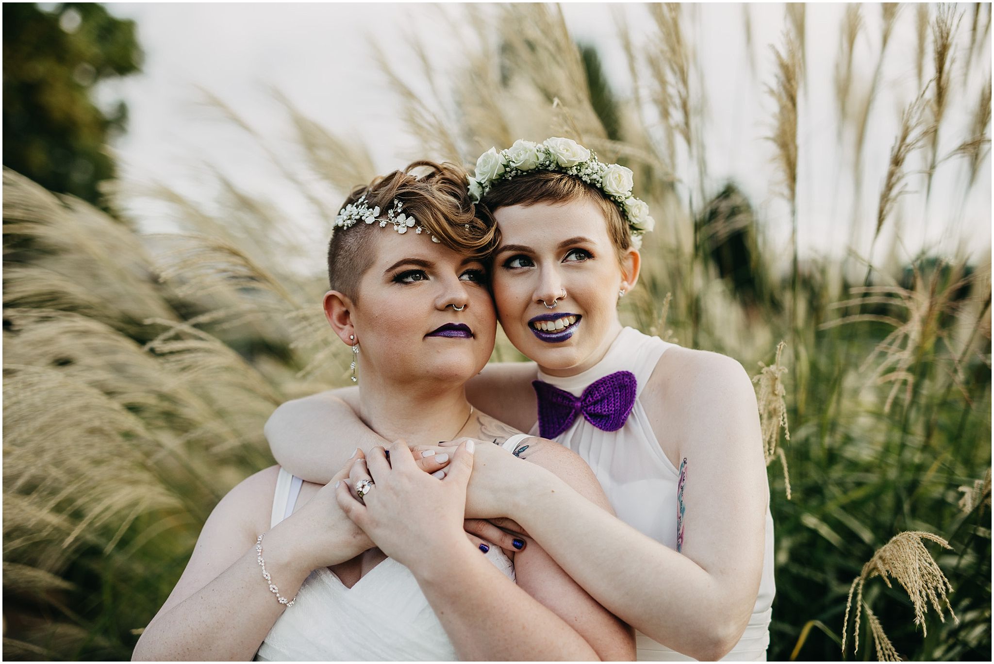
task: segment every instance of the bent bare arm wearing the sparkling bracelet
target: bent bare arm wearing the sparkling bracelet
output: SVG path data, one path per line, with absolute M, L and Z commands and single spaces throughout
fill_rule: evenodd
M 145 627 L 135 660 L 249 660 L 286 609 L 267 587 L 255 539 L 269 525 L 278 468 L 261 470 L 226 495 L 201 531 L 190 563 L 166 603 Z M 340 471 L 336 478 L 345 477 Z M 372 547 L 338 508 L 334 486 L 262 540 L 265 570 L 292 599 L 318 567 L 344 563 Z

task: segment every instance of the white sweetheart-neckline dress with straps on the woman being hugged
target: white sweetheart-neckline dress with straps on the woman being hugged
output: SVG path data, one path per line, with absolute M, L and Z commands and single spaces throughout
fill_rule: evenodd
M 293 513 L 301 480 L 282 468 L 270 528 Z M 499 547 L 484 554 L 514 581 Z M 411 571 L 392 558 L 351 588 L 318 568 L 300 586 L 255 654 L 256 661 L 441 661 L 455 649 Z

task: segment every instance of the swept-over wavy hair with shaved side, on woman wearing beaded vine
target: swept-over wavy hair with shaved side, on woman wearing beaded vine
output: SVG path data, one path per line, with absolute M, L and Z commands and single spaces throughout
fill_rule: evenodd
M 426 169 L 415 176 L 412 171 Z M 480 211 L 469 197 L 469 176 L 455 164 L 415 161 L 403 171 L 378 177 L 352 190 L 342 208 L 364 195 L 370 208 L 383 214 L 395 200 L 403 212 L 414 217 L 421 235 L 435 237 L 448 249 L 484 260 L 496 247 L 496 225 L 486 210 Z M 348 229 L 336 228 L 328 243 L 328 284 L 332 290 L 358 301 L 359 282 L 376 260 L 376 234 L 397 233 L 379 223 L 359 222 Z M 411 235 L 414 234 L 412 229 Z M 412 242 L 415 242 L 412 239 Z

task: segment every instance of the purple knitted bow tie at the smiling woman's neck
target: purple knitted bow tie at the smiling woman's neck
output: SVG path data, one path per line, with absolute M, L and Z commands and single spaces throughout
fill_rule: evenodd
M 555 438 L 570 428 L 580 413 L 597 428 L 616 431 L 624 426 L 635 406 L 637 386 L 634 374 L 619 371 L 586 386 L 578 398 L 554 385 L 532 381 L 539 397 L 539 433 L 544 438 Z

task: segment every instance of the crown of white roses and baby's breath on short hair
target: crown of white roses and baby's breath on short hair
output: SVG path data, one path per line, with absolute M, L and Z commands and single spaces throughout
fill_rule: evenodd
M 656 226 L 656 221 L 649 216 L 649 206 L 631 195 L 631 170 L 619 164 L 597 161 L 597 155 L 570 138 L 547 138 L 542 143 L 519 138 L 506 150 L 498 152 L 497 148 L 490 148 L 476 160 L 476 173 L 469 178 L 469 195 L 479 203 L 494 182 L 510 180 L 530 171 L 574 175 L 602 191 L 628 222 L 635 249 L 641 247 L 642 236 Z

